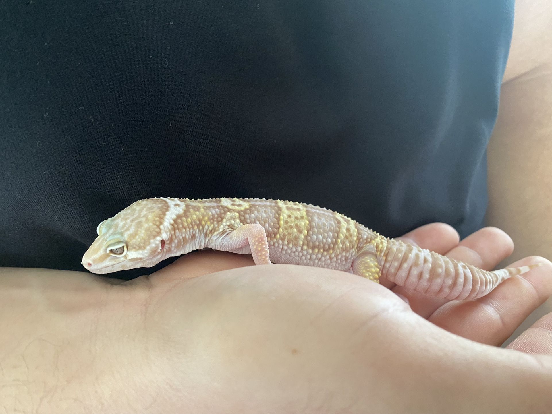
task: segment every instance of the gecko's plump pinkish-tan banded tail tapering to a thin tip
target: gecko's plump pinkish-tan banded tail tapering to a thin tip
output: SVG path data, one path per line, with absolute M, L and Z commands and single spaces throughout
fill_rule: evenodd
M 399 240 L 387 239 L 379 247 L 377 257 L 384 278 L 450 300 L 481 298 L 503 280 L 542 265 L 537 263 L 488 272 Z

